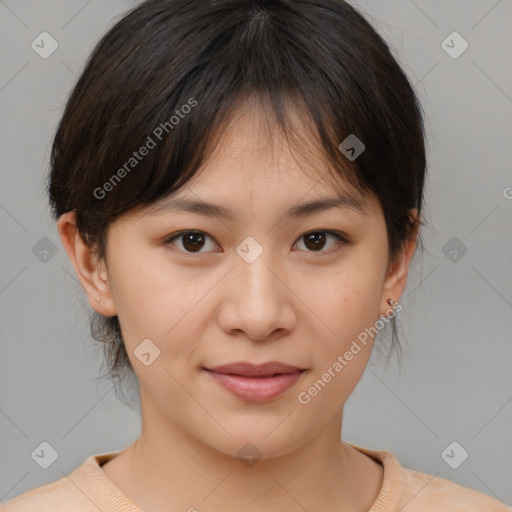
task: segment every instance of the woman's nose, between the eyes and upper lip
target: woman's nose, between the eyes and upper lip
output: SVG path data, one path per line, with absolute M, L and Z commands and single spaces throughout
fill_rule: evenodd
M 238 255 L 234 259 L 218 316 L 226 333 L 245 333 L 251 340 L 262 341 L 294 329 L 297 318 L 293 303 L 298 299 L 293 283 L 269 253 L 264 250 L 250 263 Z

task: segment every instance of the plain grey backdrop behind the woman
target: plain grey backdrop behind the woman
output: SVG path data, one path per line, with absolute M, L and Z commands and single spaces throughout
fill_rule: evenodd
M 139 432 L 138 405 L 95 380 L 101 352 L 44 189 L 67 95 L 93 44 L 136 3 L 0 0 L 0 502 Z M 402 367 L 374 351 L 343 438 L 512 504 L 512 1 L 352 3 L 426 111 L 430 227 L 400 301 Z M 59 44 L 47 59 L 31 48 L 43 31 Z M 453 31 L 469 43 L 456 59 L 441 46 Z M 58 452 L 48 469 L 31 457 L 43 441 Z M 469 453 L 458 469 L 441 457 L 453 441 Z

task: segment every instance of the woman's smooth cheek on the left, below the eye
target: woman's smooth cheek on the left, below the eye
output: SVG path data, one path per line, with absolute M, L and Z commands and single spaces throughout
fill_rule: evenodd
M 139 380 L 160 386 L 154 378 L 163 372 L 160 378 L 167 381 L 166 369 L 180 382 L 185 381 L 196 364 L 196 351 L 204 343 L 212 314 L 209 291 L 219 275 L 201 279 L 195 269 L 179 268 L 162 255 L 136 258 L 132 254 L 117 261 L 112 278 L 124 343 Z M 158 354 L 150 366 L 137 358 L 146 339 L 156 346 L 146 342 L 150 351 Z

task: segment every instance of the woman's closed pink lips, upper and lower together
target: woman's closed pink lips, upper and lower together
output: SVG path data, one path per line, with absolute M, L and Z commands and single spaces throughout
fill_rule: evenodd
M 277 398 L 306 371 L 277 361 L 260 365 L 240 362 L 203 369 L 224 389 L 251 402 Z

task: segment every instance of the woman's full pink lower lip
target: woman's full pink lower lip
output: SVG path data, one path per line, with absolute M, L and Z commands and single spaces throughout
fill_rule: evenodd
M 221 386 L 233 395 L 251 402 L 266 402 L 290 389 L 303 371 L 276 375 L 275 377 L 243 377 L 206 370 Z

